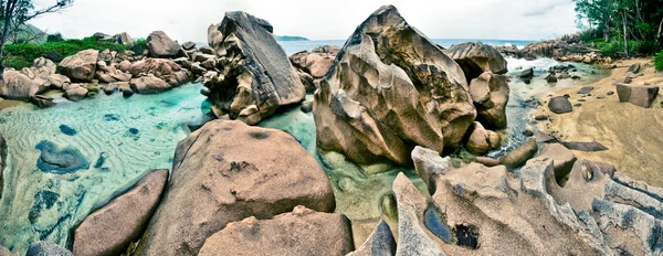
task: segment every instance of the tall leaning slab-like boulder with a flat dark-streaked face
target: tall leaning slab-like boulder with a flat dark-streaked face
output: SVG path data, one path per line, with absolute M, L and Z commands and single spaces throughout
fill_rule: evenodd
M 221 72 L 204 85 L 220 115 L 254 125 L 304 100 L 304 85 L 272 31 L 270 22 L 245 12 L 227 12 L 215 30 L 210 28 L 210 38 L 222 35 L 210 45 Z M 251 117 L 240 118 L 242 113 Z

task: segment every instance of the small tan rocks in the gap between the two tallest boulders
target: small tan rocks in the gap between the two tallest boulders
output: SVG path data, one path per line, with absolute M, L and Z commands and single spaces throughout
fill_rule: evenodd
M 339 46 L 324 45 L 308 51 L 302 51 L 291 55 L 288 58 L 297 68 L 299 79 L 306 87 L 306 93 L 313 94 L 320 87 L 320 81 L 334 64 Z

